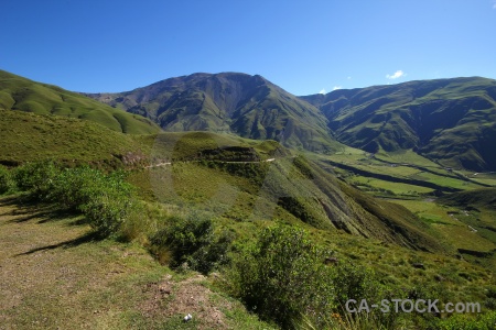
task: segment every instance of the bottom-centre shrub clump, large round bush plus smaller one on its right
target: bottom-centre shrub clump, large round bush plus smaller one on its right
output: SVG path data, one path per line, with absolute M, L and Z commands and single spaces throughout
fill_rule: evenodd
M 230 290 L 250 310 L 283 329 L 334 329 L 336 322 L 344 328 L 362 322 L 395 329 L 397 315 L 359 318 L 344 309 L 348 299 L 376 302 L 386 292 L 370 270 L 341 258 L 326 265 L 328 256 L 303 229 L 267 228 L 233 261 Z

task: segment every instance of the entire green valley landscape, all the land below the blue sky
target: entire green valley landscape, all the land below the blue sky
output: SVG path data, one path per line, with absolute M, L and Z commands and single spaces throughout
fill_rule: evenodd
M 0 322 L 355 329 L 330 318 L 346 318 L 339 299 L 353 295 L 481 301 L 490 319 L 495 86 L 454 78 L 296 97 L 224 73 L 76 94 L 0 72 Z M 452 320 L 391 318 L 363 321 Z

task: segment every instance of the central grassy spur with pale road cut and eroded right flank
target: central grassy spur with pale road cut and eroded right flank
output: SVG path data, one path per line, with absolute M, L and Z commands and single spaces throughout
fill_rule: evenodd
M 413 250 L 442 250 L 406 208 L 366 196 L 274 141 L 168 132 L 157 136 L 151 158 L 159 165 L 131 177 L 144 198 L 208 210 L 225 226 L 283 219 Z

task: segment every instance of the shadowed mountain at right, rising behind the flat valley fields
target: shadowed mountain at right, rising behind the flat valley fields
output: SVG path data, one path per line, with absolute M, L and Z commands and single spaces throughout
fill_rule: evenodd
M 325 114 L 344 144 L 371 153 L 412 148 L 448 167 L 496 169 L 496 80 L 420 80 L 301 99 Z

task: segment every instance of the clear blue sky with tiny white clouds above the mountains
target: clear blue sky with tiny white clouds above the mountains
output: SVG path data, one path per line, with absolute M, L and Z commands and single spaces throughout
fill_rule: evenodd
M 117 92 L 194 73 L 298 95 L 496 78 L 496 0 L 0 0 L 0 69 Z

